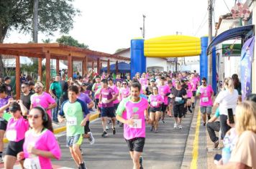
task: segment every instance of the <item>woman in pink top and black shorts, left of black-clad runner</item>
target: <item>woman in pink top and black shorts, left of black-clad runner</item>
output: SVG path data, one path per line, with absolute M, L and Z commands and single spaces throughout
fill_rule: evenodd
M 155 127 L 155 133 L 158 132 L 158 121 L 161 115 L 163 101 L 163 97 L 158 95 L 158 88 L 153 87 L 153 94 L 148 97 L 148 102 L 150 102 L 150 120 L 152 121 L 150 131 Z

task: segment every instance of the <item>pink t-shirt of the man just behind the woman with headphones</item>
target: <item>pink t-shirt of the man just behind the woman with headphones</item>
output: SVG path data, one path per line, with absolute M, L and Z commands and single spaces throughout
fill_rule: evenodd
M 49 105 L 52 105 L 55 103 L 55 100 L 52 98 L 52 96 L 47 92 L 42 92 L 42 95 L 37 95 L 35 93 L 30 97 L 31 104 L 33 107 L 42 106 L 44 108 L 49 107 Z M 52 117 L 51 110 L 47 110 L 47 114 Z

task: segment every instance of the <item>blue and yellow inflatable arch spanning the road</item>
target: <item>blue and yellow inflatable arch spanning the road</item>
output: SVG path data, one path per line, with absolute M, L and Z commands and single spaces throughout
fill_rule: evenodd
M 208 37 L 173 35 L 152 39 L 131 40 L 131 75 L 146 72 L 146 57 L 192 57 L 200 56 L 200 76 L 208 77 Z M 212 49 L 213 89 L 216 92 L 216 52 Z

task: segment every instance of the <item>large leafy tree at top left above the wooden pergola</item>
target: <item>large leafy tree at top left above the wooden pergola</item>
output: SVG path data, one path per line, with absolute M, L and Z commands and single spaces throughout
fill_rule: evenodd
M 38 4 L 38 31 L 52 35 L 53 32 L 67 34 L 73 28 L 73 18 L 80 14 L 71 3 L 73 0 L 43 0 Z M 6 34 L 16 29 L 22 33 L 32 34 L 33 0 L 0 1 L 0 43 Z M 4 72 L 4 64 L 0 55 L 0 75 Z

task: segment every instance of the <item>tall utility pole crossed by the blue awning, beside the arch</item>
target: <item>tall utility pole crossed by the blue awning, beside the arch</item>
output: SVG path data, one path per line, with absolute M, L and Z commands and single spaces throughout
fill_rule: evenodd
M 208 10 L 209 10 L 209 37 L 208 37 L 208 45 L 212 40 L 212 0 L 208 0 Z M 208 56 L 208 84 L 212 86 L 212 54 Z

